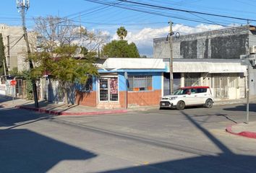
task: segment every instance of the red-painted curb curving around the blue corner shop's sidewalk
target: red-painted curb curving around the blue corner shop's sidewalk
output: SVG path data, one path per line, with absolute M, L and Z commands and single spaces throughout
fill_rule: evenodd
M 126 113 L 127 110 L 103 110 L 103 111 L 94 111 L 94 112 L 60 112 L 56 110 L 46 110 L 44 108 L 35 108 L 35 107 L 25 107 L 25 106 L 15 106 L 18 109 L 31 110 L 35 112 L 47 113 L 51 115 L 106 115 L 106 114 L 118 114 Z

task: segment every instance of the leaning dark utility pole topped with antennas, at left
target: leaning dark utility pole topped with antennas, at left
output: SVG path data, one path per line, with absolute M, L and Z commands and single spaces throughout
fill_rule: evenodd
M 17 0 L 17 9 L 20 9 L 19 12 L 22 15 L 22 28 L 24 32 L 24 40 L 27 45 L 27 56 L 30 56 L 30 45 L 28 43 L 28 37 L 27 37 L 27 28 L 25 26 L 25 11 L 30 7 L 30 1 L 29 0 Z M 33 67 L 33 62 L 29 58 L 29 63 L 30 63 L 30 71 L 34 68 Z M 35 79 L 32 79 L 32 86 L 33 86 L 33 95 L 34 95 L 34 100 L 35 100 L 35 107 L 38 106 L 38 92 L 36 89 L 36 84 L 35 84 Z

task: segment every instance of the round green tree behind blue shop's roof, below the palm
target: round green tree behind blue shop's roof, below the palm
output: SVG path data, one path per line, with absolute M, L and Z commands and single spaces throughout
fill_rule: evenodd
M 135 43 L 128 43 L 127 40 L 112 40 L 103 46 L 103 56 L 116 58 L 139 58 L 140 53 Z

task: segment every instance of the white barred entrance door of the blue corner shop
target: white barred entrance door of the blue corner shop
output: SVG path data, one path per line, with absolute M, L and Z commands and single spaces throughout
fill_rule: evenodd
M 100 102 L 114 102 L 119 100 L 117 77 L 100 78 Z

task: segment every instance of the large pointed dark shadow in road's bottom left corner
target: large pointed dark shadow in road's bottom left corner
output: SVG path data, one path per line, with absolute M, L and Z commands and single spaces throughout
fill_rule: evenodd
M 0 172 L 48 172 L 64 160 L 96 155 L 25 129 L 0 130 Z

